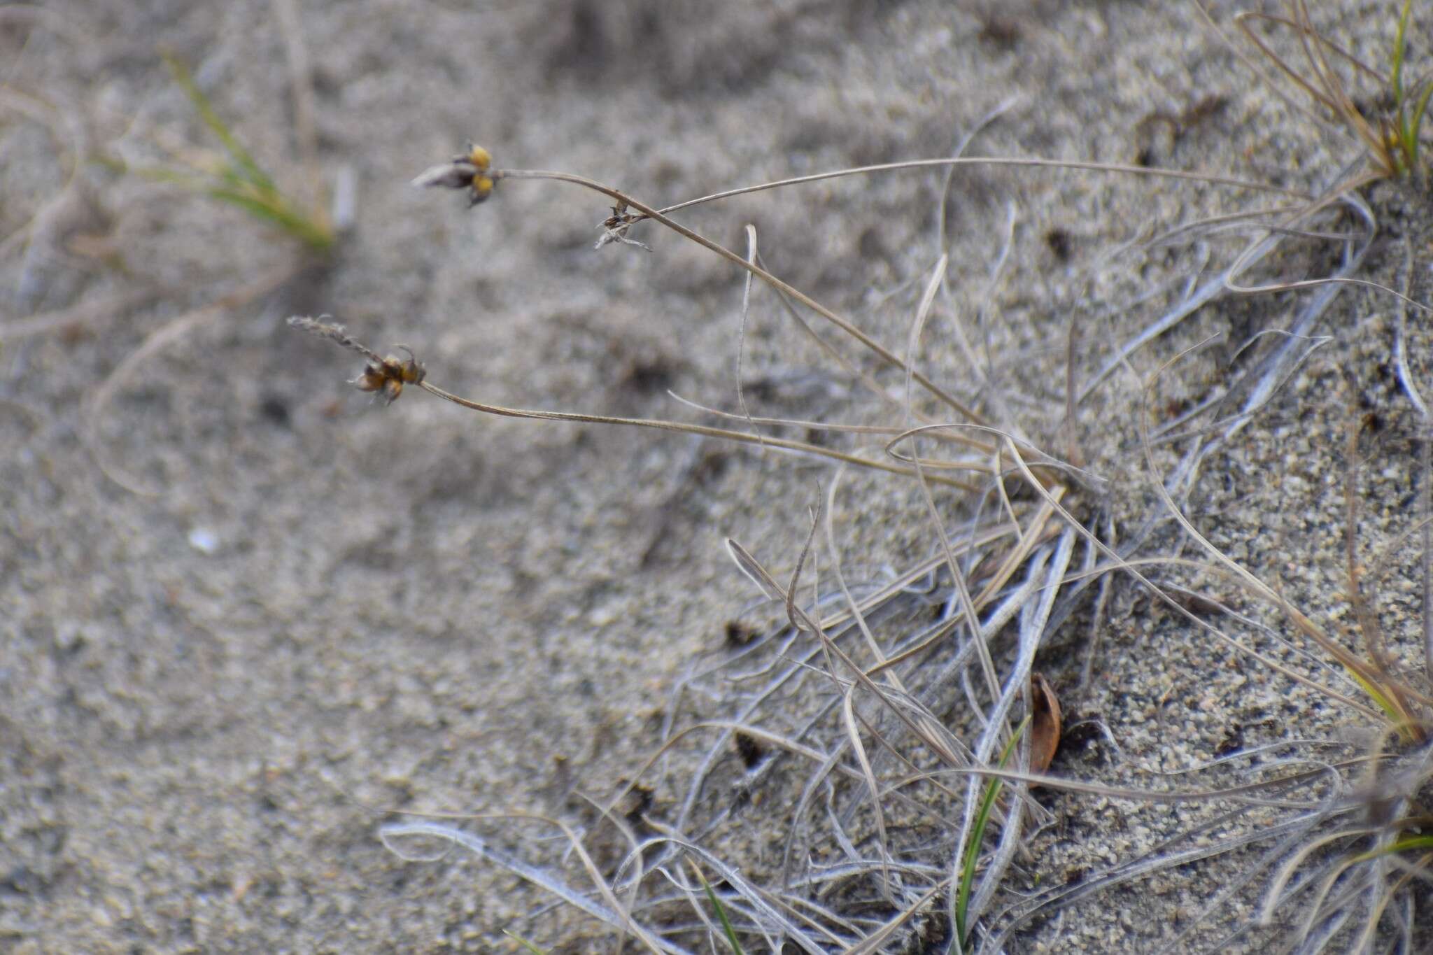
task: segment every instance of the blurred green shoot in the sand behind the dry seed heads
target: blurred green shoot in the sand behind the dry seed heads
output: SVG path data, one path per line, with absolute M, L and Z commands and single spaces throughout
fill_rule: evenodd
M 219 119 L 209 97 L 193 82 L 188 67 L 169 54 L 163 54 L 163 60 L 175 83 L 193 103 L 199 119 L 224 146 L 226 156 L 215 156 L 211 162 L 186 160 L 189 169 L 129 166 L 123 160 L 112 157 L 103 157 L 100 162 L 118 172 L 133 172 L 146 179 L 168 182 L 195 195 L 242 209 L 255 219 L 288 233 L 314 252 L 331 249 L 337 235 L 322 208 L 305 209 L 287 196 L 274 178 L 264 172 L 252 153 L 244 147 L 234 130 Z

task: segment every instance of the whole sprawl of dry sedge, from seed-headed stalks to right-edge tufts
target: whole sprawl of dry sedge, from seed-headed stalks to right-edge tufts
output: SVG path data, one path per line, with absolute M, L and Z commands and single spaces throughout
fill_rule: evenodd
M 1294 31 L 1304 70 L 1252 31 L 1251 21 L 1260 20 Z M 1424 480 L 1420 520 L 1369 570 L 1357 557 L 1361 418 L 1348 414 L 1343 548 L 1350 624 L 1331 616 L 1320 621 L 1295 607 L 1283 587 L 1215 546 L 1188 513 L 1204 465 L 1218 461 L 1297 372 L 1315 368 L 1315 352 L 1330 341 L 1321 336 L 1323 324 L 1340 292 L 1373 285 L 1358 271 L 1377 218 L 1358 189 L 1379 178 L 1422 180 L 1419 130 L 1433 83 L 1404 79 L 1407 3 L 1387 77 L 1323 39 L 1301 0 L 1290 4 L 1287 17 L 1247 14 L 1240 26 L 1280 72 L 1363 140 L 1367 175 L 1336 170 L 1324 190 L 1301 193 L 1142 166 L 963 157 L 962 145 L 954 157 L 801 176 L 658 209 L 582 176 L 497 168 L 477 146 L 421 173 L 416 185 L 463 190 L 471 205 L 516 180 L 575 185 L 612 203 L 599 248 L 649 248 L 636 238 L 649 226 L 705 248 L 744 276 L 742 321 L 751 285 L 759 281 L 801 334 L 861 382 L 891 421 L 758 418 L 742 404 L 742 414 L 728 415 L 747 425 L 737 430 L 509 408 L 444 391 L 406 346 L 400 346 L 404 355 L 383 357 L 328 316 L 291 318 L 295 328 L 358 352 L 365 365 L 353 384 L 390 404 L 404 391 L 421 389 L 483 414 L 681 431 L 825 458 L 835 468 L 813 501 L 810 534 L 790 574 L 778 577 L 770 558 L 728 541 L 758 600 L 728 626 L 727 646 L 691 666 L 674 692 L 666 743 L 635 767 L 622 792 L 590 796 L 580 818 L 404 816 L 380 828 L 384 842 L 408 859 L 433 859 L 461 846 L 590 915 L 616 939 L 655 952 L 1010 951 L 1023 931 L 1078 912 L 1101 893 L 1215 856 L 1228 856 L 1225 865 L 1234 868 L 1224 872 L 1234 875 L 1222 878 L 1198 911 L 1152 924 L 1152 949 L 1273 944 L 1300 952 L 1374 946 L 1412 952 L 1426 944 L 1433 627 L 1424 614 L 1412 641 L 1417 653 L 1410 653 L 1401 634 L 1384 633 L 1366 587 L 1377 584 L 1399 548 L 1420 540 L 1424 606 L 1429 601 L 1430 418 L 1404 349 L 1407 308 L 1427 309 L 1412 302 L 1407 289 L 1376 286 L 1399 302 L 1403 315 L 1394 358 L 1423 422 Z M 1369 119 L 1354 106 L 1340 67 L 1390 89 L 1389 115 Z M 698 203 L 765 189 L 898 170 L 949 173 L 963 165 L 1162 176 L 1278 198 L 1274 206 L 1151 238 L 1149 248 L 1191 242 L 1208 248 L 1230 236 L 1244 243 L 1222 259 L 1225 265 L 1201 258 L 1191 278 L 1162 298 L 1151 295 L 1155 305 L 1145 308 L 1142 331 L 1115 344 L 1098 367 L 1083 368 L 1070 328 L 1065 394 L 1039 414 L 1052 432 L 1063 427 L 1073 434 L 1093 395 L 1121 378 L 1138 381 L 1141 462 L 1162 513 L 1136 521 L 1132 533 L 1116 538 L 1115 515 L 1102 504 L 1103 481 L 1025 437 L 987 379 L 972 374 L 972 384 L 952 389 L 920 371 L 926 322 L 937 308 L 956 312 L 943 235 L 901 354 L 772 275 L 757 252 L 754 229 L 748 228 L 741 255 L 674 219 Z M 947 175 L 947 189 L 949 183 Z M 1334 271 L 1252 278 L 1297 261 L 1298 243 L 1333 249 Z M 1185 355 L 1144 377 L 1134 359 L 1231 292 L 1278 291 L 1307 292 L 1293 324 L 1255 334 L 1240 346 L 1242 361 L 1222 387 L 1152 427 L 1152 394 L 1164 371 Z M 1125 305 L 1139 304 L 1113 304 L 1112 311 Z M 959 319 L 953 328 L 964 335 Z M 967 342 L 962 345 L 973 354 Z M 891 377 L 898 387 L 891 387 Z M 813 444 L 785 437 L 790 428 L 824 430 L 878 447 Z M 1066 457 L 1076 458 L 1079 448 L 1069 447 L 1075 454 Z M 1161 470 L 1161 448 L 1179 448 L 1172 471 Z M 838 515 L 851 507 L 841 495 L 850 467 L 916 483 L 931 530 L 926 560 L 886 580 L 847 578 Z M 1171 523 L 1199 556 L 1151 553 L 1168 547 L 1159 528 Z M 1118 779 L 1049 775 L 1060 733 L 1059 700 L 1036 672 L 1036 656 L 1059 627 L 1085 619 L 1088 682 L 1116 576 L 1162 603 L 1189 640 L 1224 647 L 1313 689 L 1364 732 L 1305 737 L 1294 729 L 1285 739 L 1175 773 L 1119 766 Z M 1232 587 L 1235 597 L 1208 593 L 1211 580 L 1221 591 Z M 694 712 L 706 716 L 694 720 Z M 665 767 L 676 765 L 676 755 L 684 756 L 681 765 L 696 769 L 674 782 Z M 1032 789 L 1135 808 L 1178 806 L 1194 822 L 1146 853 L 1065 885 L 1032 885 L 1039 865 L 1029 856 L 1029 840 L 1053 823 Z M 514 828 L 529 829 L 532 838 L 512 836 Z M 540 838 L 553 832 L 559 848 L 545 852 Z M 781 833 L 778 845 L 764 839 L 771 832 Z M 1012 876 L 1020 876 L 1013 882 L 1023 881 L 1027 891 L 1016 891 Z M 532 928 L 540 931 L 540 919 Z M 527 951 L 542 951 L 524 935 L 513 938 Z

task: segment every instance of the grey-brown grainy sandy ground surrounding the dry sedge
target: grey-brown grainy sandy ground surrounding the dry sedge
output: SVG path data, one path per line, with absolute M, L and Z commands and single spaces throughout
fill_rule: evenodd
M 1386 6 L 1318 16 L 1377 56 Z M 377 826 L 388 809 L 562 815 L 575 790 L 600 798 L 631 779 L 662 740 L 681 674 L 758 596 L 722 540 L 790 573 L 833 475 L 714 440 L 484 418 L 423 394 L 383 408 L 348 388 L 357 359 L 287 329 L 288 315 L 331 312 L 380 349 L 406 342 L 436 384 L 500 404 L 711 421 L 672 389 L 737 408 L 737 269 L 651 229 L 651 253 L 593 251 L 608 210 L 569 186 L 506 182 L 469 212 L 407 185 L 466 139 L 499 165 L 592 175 L 653 203 L 949 155 L 1012 97 L 970 155 L 1142 157 L 1310 190 L 1357 155 L 1251 80 L 1191 4 L 302 1 L 320 172 L 355 175 L 351 232 L 277 291 L 188 321 L 97 408 L 102 382 L 149 336 L 297 262 L 288 239 L 234 209 L 83 162 L 215 145 L 158 59 L 169 50 L 302 193 L 278 9 L 0 9 L 0 951 L 514 951 L 504 928 L 613 951 L 610 934 L 513 875 L 461 852 L 406 862 Z M 1228 23 L 1228 4 L 1215 11 Z M 901 349 L 939 255 L 941 186 L 939 170 L 845 179 L 684 222 L 737 249 L 755 223 L 772 271 Z M 1224 335 L 1164 384 L 1156 414 L 1174 415 L 1217 385 L 1237 344 L 1288 326 L 1304 299 L 1199 312 L 1113 375 L 1073 431 L 1069 322 L 1083 322 L 1083 378 L 1149 321 L 1131 301 L 1201 263 L 1188 246 L 1101 256 L 1270 202 L 1136 176 L 962 170 L 944 209 L 954 294 L 927 324 L 920 367 L 973 395 L 952 334 L 964 322 L 1010 397 L 1006 421 L 1056 454 L 1073 442 L 1111 481 L 1079 513 L 1132 530 L 1159 507 L 1134 424 L 1139 377 Z M 1211 255 L 1238 248 L 1214 242 Z M 1414 295 L 1426 246 L 1416 252 Z M 1290 259 L 1278 268 L 1321 273 L 1337 248 Z M 1363 273 L 1400 285 L 1401 246 L 1377 245 Z M 56 324 L 72 309 L 86 311 Z M 1205 464 L 1194 495 L 1221 547 L 1333 620 L 1347 614 L 1347 388 L 1379 418 L 1364 445 L 1369 560 L 1416 515 L 1417 425 L 1387 374 L 1394 318 L 1389 298 L 1343 292 L 1320 329 L 1334 339 Z M 770 294 L 752 305 L 742 377 L 754 414 L 887 414 Z M 1178 454 L 1156 461 L 1172 468 Z M 838 501 L 853 578 L 934 547 L 906 478 L 848 468 Z M 1164 527 L 1151 553 L 1176 540 Z M 1422 601 L 1399 561 L 1384 610 L 1394 640 L 1412 640 Z M 1126 765 L 1165 772 L 1369 724 L 1211 646 L 1128 580 L 1108 610 L 1091 687 L 1076 686 L 1089 607 L 1048 637 L 1042 669 L 1068 724 L 1085 723 L 1055 772 L 1095 777 L 1113 762 L 1089 720 Z M 655 815 L 682 766 L 648 780 Z M 1017 891 L 1126 858 L 1192 818 L 1042 800 L 1059 822 L 1022 859 Z M 755 865 L 741 845 L 725 850 Z M 1182 866 L 1016 944 L 1144 951 L 1240 865 Z

